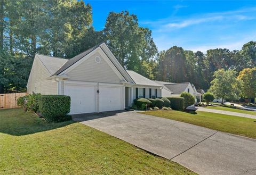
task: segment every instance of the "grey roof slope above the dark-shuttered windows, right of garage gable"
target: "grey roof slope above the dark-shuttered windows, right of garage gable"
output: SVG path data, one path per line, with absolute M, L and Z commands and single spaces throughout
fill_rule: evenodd
M 146 85 L 146 86 L 158 86 L 162 87 L 161 85 L 157 84 L 156 82 L 141 76 L 141 74 L 134 72 L 132 70 L 126 70 L 130 77 L 133 79 L 136 85 Z

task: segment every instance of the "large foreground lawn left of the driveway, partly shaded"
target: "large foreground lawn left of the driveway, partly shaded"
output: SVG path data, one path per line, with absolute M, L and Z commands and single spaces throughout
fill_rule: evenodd
M 73 121 L 0 110 L 0 174 L 195 174 Z

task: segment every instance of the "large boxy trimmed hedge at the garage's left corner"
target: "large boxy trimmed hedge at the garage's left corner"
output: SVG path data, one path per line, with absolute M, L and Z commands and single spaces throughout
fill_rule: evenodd
M 70 97 L 66 95 L 42 95 L 39 110 L 48 122 L 71 120 Z

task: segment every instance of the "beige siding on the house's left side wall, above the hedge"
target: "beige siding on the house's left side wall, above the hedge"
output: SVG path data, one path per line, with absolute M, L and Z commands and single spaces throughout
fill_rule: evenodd
M 35 56 L 28 80 L 28 93 L 31 94 L 35 91 L 36 86 L 36 93 L 41 93 L 43 95 L 57 94 L 57 82 L 52 82 L 52 80 L 46 79 L 50 76 L 50 72 L 45 68 L 39 58 Z

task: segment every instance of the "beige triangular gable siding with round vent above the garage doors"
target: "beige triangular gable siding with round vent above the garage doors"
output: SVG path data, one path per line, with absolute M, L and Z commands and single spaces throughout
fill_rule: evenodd
M 101 58 L 100 63 L 95 62 L 95 56 Z M 67 73 L 67 76 L 70 77 L 69 80 L 75 81 L 106 82 L 113 84 L 120 84 L 121 81 L 99 53 L 93 54 L 89 59 L 76 66 Z

